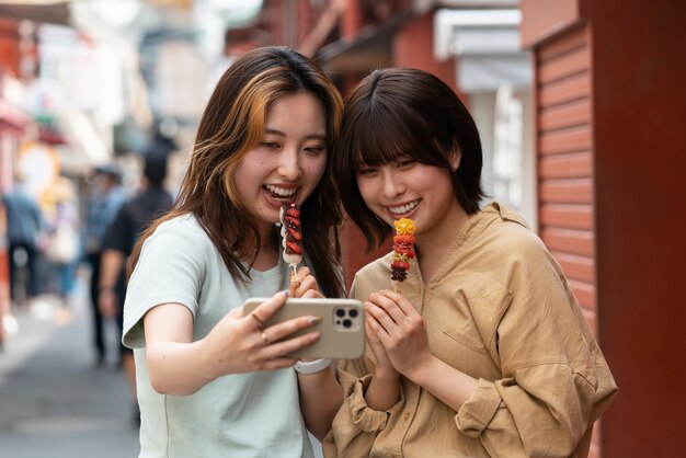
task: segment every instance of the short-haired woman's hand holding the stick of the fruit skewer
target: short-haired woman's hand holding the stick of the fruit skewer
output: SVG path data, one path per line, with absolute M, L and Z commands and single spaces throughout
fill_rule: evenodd
M 365 309 L 369 324 L 400 374 L 413 379 L 431 359 L 424 319 L 402 295 L 382 289 L 369 295 Z

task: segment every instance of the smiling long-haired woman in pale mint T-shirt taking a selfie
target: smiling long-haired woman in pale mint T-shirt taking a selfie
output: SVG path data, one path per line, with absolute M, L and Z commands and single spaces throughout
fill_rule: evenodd
M 250 51 L 219 80 L 178 201 L 129 263 L 123 339 L 136 356 L 141 457 L 312 456 L 305 424 L 325 431 L 308 402 L 335 402 L 340 388 L 299 380 L 285 355 L 319 337 L 289 337 L 317 317 L 262 322 L 288 295 L 343 295 L 328 161 L 341 117 L 334 85 L 287 48 Z M 296 287 L 275 226 L 286 202 L 301 207 Z M 272 298 L 243 317 L 252 296 Z

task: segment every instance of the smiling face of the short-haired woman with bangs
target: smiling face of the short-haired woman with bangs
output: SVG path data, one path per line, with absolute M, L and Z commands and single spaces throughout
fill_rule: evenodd
M 415 162 L 411 157 L 399 157 L 378 167 L 361 167 L 357 187 L 367 207 L 379 218 L 390 226 L 397 219 L 410 218 L 418 234 L 439 237 L 443 230 L 449 233 L 455 211 L 461 211 L 449 171 Z

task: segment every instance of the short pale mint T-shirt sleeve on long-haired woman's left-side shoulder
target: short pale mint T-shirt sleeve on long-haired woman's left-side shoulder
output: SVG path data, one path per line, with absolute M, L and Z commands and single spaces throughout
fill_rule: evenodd
M 126 290 L 124 345 L 145 346 L 142 318 L 160 304 L 181 304 L 195 316 L 205 275 L 205 247 L 197 232 L 170 221 L 145 241 Z

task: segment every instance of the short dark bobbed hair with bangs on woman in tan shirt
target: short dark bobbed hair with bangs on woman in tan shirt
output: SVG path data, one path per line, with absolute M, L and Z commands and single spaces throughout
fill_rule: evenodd
M 459 149 L 459 168 L 451 153 Z M 345 99 L 341 136 L 332 171 L 343 206 L 362 229 L 367 249 L 378 247 L 391 228 L 364 203 L 357 187 L 359 167 L 380 165 L 399 156 L 450 170 L 453 188 L 468 214 L 479 210 L 482 152 L 477 126 L 457 94 L 422 70 L 374 70 Z

